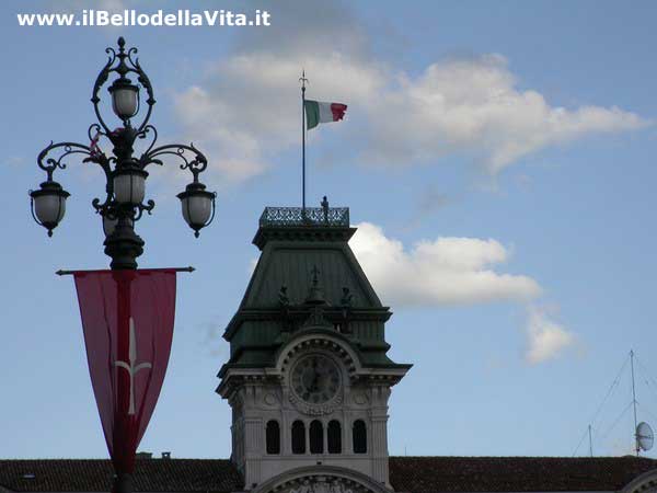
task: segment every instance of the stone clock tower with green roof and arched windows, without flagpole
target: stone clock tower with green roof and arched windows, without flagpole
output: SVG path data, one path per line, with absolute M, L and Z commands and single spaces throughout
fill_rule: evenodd
M 217 392 L 254 493 L 382 493 L 388 400 L 411 365 L 387 352 L 381 305 L 348 240 L 347 208 L 267 207 L 261 257 L 223 334 Z

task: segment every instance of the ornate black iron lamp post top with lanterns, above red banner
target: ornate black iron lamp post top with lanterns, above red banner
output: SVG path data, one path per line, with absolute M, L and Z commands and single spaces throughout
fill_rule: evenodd
M 180 168 L 189 170 L 193 180 L 185 191 L 177 194 L 181 199 L 183 218 L 198 237 L 198 231 L 208 226 L 215 217 L 214 192 L 208 192 L 206 186 L 198 181 L 198 175 L 208 165 L 206 157 L 194 145 L 173 144 L 155 147 L 158 131 L 149 125 L 155 100 L 153 89 L 146 72 L 139 65 L 139 59 L 134 58 L 137 48 L 125 49 L 125 41 L 118 38 L 118 53 L 114 48 L 105 50 L 110 59 L 99 73 L 91 102 L 95 111 L 97 123 L 88 129 L 90 145 L 77 142 L 50 142 L 37 158 L 38 167 L 46 172 L 47 179 L 39 185 L 39 190 L 31 191 L 32 215 L 37 223 L 48 230 L 59 225 L 66 211 L 66 200 L 70 194 L 59 183 L 53 180 L 57 169 L 65 169 L 62 161 L 71 154 L 85 156 L 84 163 L 95 163 L 105 173 L 105 198 L 94 198 L 92 205 L 103 219 L 105 232 L 105 254 L 112 257 L 113 270 L 137 268 L 137 257 L 143 252 L 143 240 L 135 232 L 135 222 L 143 211 L 151 214 L 155 206 L 153 200 L 143 202 L 146 179 L 149 164 L 162 165 L 163 157 L 175 157 L 181 160 Z M 105 85 L 111 74 L 116 79 L 107 88 L 112 98 L 112 108 L 122 126 L 112 130 L 103 117 L 99 104 L 100 90 Z M 136 77 L 132 82 L 127 76 Z M 146 115 L 139 124 L 132 124 L 142 104 L 140 91 L 146 91 Z M 114 146 L 112 156 L 107 157 L 99 147 L 99 139 L 104 137 Z M 137 157 L 134 154 L 134 145 L 137 139 L 150 139 L 146 151 Z

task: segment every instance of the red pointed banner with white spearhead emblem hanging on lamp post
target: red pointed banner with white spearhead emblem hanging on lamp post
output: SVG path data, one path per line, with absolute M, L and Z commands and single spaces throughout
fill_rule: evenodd
M 73 273 L 91 383 L 117 473 L 135 452 L 164 381 L 175 314 L 175 270 Z

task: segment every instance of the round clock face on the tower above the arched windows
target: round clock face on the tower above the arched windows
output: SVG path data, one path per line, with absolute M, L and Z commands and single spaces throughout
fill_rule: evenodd
M 333 399 L 339 380 L 337 365 L 320 354 L 302 357 L 291 371 L 292 391 L 309 404 L 323 404 Z

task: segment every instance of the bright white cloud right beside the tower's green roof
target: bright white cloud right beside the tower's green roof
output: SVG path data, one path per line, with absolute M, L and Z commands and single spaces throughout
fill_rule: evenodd
M 493 270 L 509 256 L 496 240 L 438 238 L 406 250 L 376 225 L 357 227 L 349 244 L 385 303 L 465 305 L 527 300 L 541 293 L 531 277 Z

